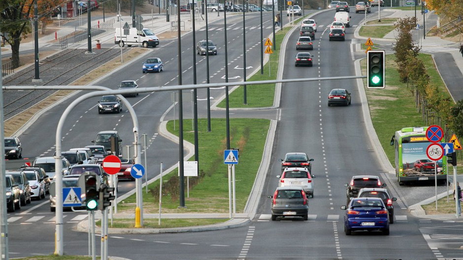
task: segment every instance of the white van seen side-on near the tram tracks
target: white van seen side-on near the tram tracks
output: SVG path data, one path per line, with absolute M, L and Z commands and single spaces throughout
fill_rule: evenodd
M 148 28 L 143 28 L 140 32 L 136 28 L 116 28 L 114 33 L 114 44 L 124 47 L 140 43 L 143 47 L 156 47 L 159 45 L 159 38 Z M 121 35 L 122 34 L 122 35 Z

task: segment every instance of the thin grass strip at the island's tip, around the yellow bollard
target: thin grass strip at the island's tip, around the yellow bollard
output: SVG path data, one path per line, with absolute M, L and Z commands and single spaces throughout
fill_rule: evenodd
M 163 219 L 161 215 L 161 226 L 159 219 L 143 219 L 144 228 L 168 228 L 168 227 L 194 227 L 201 225 L 210 225 L 227 221 L 228 219 Z M 134 228 L 135 221 L 133 219 L 114 219 L 113 225 L 108 221 L 111 228 Z M 101 221 L 97 221 L 96 225 L 101 226 Z

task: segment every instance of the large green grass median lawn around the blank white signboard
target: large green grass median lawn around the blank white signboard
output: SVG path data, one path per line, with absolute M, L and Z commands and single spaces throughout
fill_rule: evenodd
M 191 123 L 185 120 L 185 125 Z M 178 125 L 178 121 L 176 121 Z M 231 147 L 239 149 L 239 164 L 236 165 L 236 211 L 243 212 L 251 192 L 264 151 L 265 139 L 269 127 L 265 119 L 230 119 Z M 167 130 L 173 130 L 173 122 L 169 121 Z M 200 182 L 190 187 L 190 197 L 185 197 L 187 208 L 178 208 L 179 199 L 172 197 L 167 189 L 166 180 L 178 180 L 178 170 L 175 169 L 163 177 L 163 213 L 228 213 L 228 171 L 223 162 L 223 151 L 226 149 L 225 119 L 212 119 L 211 132 L 207 131 L 207 120 L 198 120 L 199 171 L 204 177 Z M 184 132 L 184 139 L 193 143 L 194 132 Z M 193 161 L 194 158 L 191 159 Z M 193 178 L 190 177 L 190 184 Z M 185 178 L 186 181 L 186 178 Z M 185 185 L 186 186 L 186 185 Z M 143 193 L 144 213 L 158 213 L 158 194 L 155 188 L 159 181 L 148 186 L 149 193 Z M 178 184 L 172 189 L 178 190 Z M 185 187 L 186 189 L 186 187 Z M 185 192 L 186 194 L 186 192 Z M 185 195 L 186 196 L 186 195 Z M 118 212 L 134 213 L 135 195 L 118 204 Z M 117 221 L 117 220 L 115 220 Z M 197 219 L 198 225 L 207 224 L 211 220 Z M 190 224 L 185 223 L 186 226 Z

